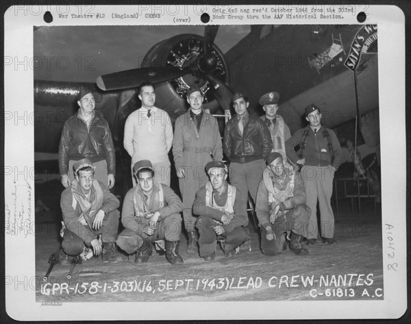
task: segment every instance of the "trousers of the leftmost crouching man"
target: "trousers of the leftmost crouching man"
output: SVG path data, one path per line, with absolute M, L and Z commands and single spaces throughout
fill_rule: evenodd
M 97 236 L 101 234 L 101 239 L 103 242 L 115 242 L 117 239 L 117 235 L 119 235 L 119 218 L 120 212 L 115 209 L 114 211 L 110 211 L 108 213 L 107 218 L 103 220 L 103 224 L 101 227 L 96 231 L 92 231 L 92 233 Z M 90 231 L 86 229 L 86 227 L 79 227 L 79 229 L 84 231 Z M 63 235 L 63 242 L 62 248 L 64 253 L 68 255 L 77 255 L 82 253 L 84 248 L 84 240 L 79 237 L 76 233 L 69 231 L 69 229 L 64 230 Z M 86 244 L 90 246 L 90 244 Z

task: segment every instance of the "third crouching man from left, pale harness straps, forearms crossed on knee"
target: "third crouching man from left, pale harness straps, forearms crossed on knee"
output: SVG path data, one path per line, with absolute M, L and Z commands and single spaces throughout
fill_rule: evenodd
M 223 240 L 221 247 L 226 257 L 235 254 L 234 249 L 247 240 L 243 227 L 248 224 L 245 201 L 236 187 L 227 183 L 227 171 L 223 162 L 206 164 L 210 181 L 199 189 L 192 209 L 199 218 L 200 256 L 206 261 L 214 259 L 216 240 Z

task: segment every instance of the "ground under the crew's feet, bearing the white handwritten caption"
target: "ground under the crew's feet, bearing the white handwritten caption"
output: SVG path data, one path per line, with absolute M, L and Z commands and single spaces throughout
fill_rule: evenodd
M 104 264 L 100 257 L 82 262 L 71 279 L 66 277 L 70 266 L 57 264 L 43 281 L 47 260 L 61 240 L 60 211 L 51 207 L 36 213 L 36 302 L 384 299 L 381 205 L 374 213 L 372 200 L 363 200 L 361 216 L 349 200 L 339 200 L 338 207 L 338 243 L 317 240 L 305 256 L 289 248 L 274 257 L 263 255 L 250 213 L 251 251 L 243 249 L 234 257 L 225 257 L 219 245 L 212 262 L 188 255 L 183 231 L 180 266 L 171 266 L 154 250 L 146 264 L 135 264 L 134 255 L 121 253 L 119 264 Z

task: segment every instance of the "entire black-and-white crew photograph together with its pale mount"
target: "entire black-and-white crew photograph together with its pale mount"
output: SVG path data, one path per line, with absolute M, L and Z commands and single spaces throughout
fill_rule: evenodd
M 5 147 L 21 154 L 5 161 L 6 299 L 23 280 L 45 319 L 77 303 L 102 319 L 127 303 L 125 319 L 401 316 L 395 9 L 80 7 L 30 21 L 24 59 L 5 51 L 32 87 L 5 88 L 5 136 L 27 129 Z

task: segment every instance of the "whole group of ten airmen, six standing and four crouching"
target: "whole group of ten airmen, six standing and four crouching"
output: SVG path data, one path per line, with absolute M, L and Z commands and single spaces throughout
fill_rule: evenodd
M 330 199 L 341 149 L 335 133 L 321 125 L 319 107 L 306 107 L 308 126 L 291 136 L 277 114 L 277 92 L 260 98 L 262 117 L 249 114 L 247 97 L 234 93 L 236 115 L 221 141 L 216 118 L 203 109 L 201 89 L 187 91 L 190 108 L 177 117 L 174 131 L 166 111 L 155 106 L 153 84 L 141 84 L 138 97 L 142 106 L 127 117 L 123 142 L 132 157 L 134 187 L 120 213 L 120 201 L 110 192 L 116 172 L 110 128 L 95 111 L 92 92 L 79 91 L 79 111 L 64 124 L 59 147 L 66 188 L 60 201 L 60 264 L 92 255 L 121 262 L 118 248 L 142 264 L 153 246 L 170 264 L 182 264 L 183 223 L 187 253 L 210 261 L 220 242 L 224 255 L 232 257 L 249 240 L 249 197 L 255 202 L 264 255 L 282 253 L 288 245 L 295 255 L 308 254 L 304 245 L 316 244 L 319 235 L 317 200 L 321 238 L 336 242 Z M 170 150 L 182 199 L 170 187 Z

